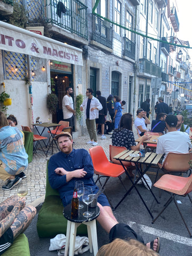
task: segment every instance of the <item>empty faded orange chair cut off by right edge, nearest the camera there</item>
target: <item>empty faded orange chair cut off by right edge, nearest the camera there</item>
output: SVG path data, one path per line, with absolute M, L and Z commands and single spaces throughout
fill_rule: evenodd
M 170 175 L 170 174 L 165 174 L 163 175 L 155 184 L 154 187 L 159 188 L 159 189 L 163 189 L 167 192 L 169 192 L 169 194 L 171 194 L 171 197 L 169 198 L 169 200 L 167 200 L 167 202 L 164 205 L 163 210 L 157 215 L 157 217 L 153 220 L 152 223 L 154 223 L 158 217 L 164 212 L 164 210 L 166 209 L 166 207 L 172 202 L 174 201 L 179 214 L 181 215 L 181 218 L 187 228 L 187 231 L 191 236 L 190 230 L 187 226 L 186 221 L 183 218 L 183 215 L 179 209 L 179 205 L 177 203 L 177 200 L 175 199 L 175 196 L 179 195 L 179 196 L 188 196 L 189 200 L 192 204 L 191 198 L 189 196 L 189 193 L 192 191 L 192 174 L 189 177 L 180 177 L 180 176 L 175 176 L 175 175 Z M 163 218 L 162 218 L 163 219 Z M 161 219 L 161 221 L 162 221 Z

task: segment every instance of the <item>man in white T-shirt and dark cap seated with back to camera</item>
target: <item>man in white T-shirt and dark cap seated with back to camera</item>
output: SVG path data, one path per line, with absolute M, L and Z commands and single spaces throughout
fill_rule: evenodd
M 165 123 L 169 132 L 158 138 L 156 153 L 165 154 L 164 159 L 169 152 L 188 153 L 189 148 L 192 148 L 190 138 L 186 132 L 177 131 L 177 116 L 167 116 Z

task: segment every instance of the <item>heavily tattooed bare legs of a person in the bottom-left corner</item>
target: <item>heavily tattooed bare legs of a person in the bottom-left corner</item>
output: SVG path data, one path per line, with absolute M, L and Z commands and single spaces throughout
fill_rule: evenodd
M 0 204 L 0 255 L 26 230 L 35 217 L 36 208 L 25 204 L 26 198 L 17 195 Z

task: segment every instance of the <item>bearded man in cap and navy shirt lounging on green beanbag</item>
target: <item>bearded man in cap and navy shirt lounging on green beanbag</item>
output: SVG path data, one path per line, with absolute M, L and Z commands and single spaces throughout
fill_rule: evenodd
M 90 154 L 85 149 L 73 149 L 73 139 L 69 132 L 61 132 L 55 138 L 58 140 L 61 151 L 50 158 L 48 165 L 49 182 L 53 189 L 59 191 L 63 206 L 71 202 L 77 180 L 82 180 L 84 187 L 92 187 L 93 193 L 96 194 L 99 188 L 93 180 L 94 170 Z M 123 223 L 118 223 L 104 194 L 98 197 L 98 206 L 100 215 L 97 220 L 109 233 L 110 239 L 118 236 L 118 234 L 121 234 L 121 237 L 127 237 L 130 234 L 131 228 Z M 137 239 L 136 233 L 134 238 Z M 156 251 L 157 239 L 151 244 Z

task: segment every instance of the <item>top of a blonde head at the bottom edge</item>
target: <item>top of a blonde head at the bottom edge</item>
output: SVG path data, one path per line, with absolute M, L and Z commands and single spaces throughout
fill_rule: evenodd
M 115 239 L 110 244 L 103 245 L 97 256 L 157 256 L 155 251 L 148 249 L 145 244 L 137 240 L 131 239 L 125 241 L 123 239 Z

